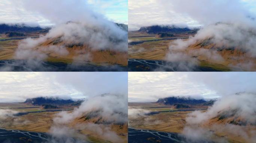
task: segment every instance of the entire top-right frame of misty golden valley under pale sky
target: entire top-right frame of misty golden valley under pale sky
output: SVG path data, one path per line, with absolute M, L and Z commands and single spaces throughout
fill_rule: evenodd
M 253 1 L 153 0 L 140 8 L 132 3 L 129 25 L 138 28 L 129 32 L 131 71 L 255 71 Z M 152 5 L 158 14 L 146 16 Z M 183 30 L 139 29 L 155 25 Z M 198 30 L 184 32 L 186 28 Z

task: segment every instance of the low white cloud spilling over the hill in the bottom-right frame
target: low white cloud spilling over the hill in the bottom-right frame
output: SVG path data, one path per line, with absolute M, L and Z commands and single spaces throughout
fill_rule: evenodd
M 255 140 L 256 133 L 250 130 L 250 125 L 256 124 L 256 95 L 255 93 L 237 93 L 234 95 L 223 96 L 218 101 L 214 102 L 213 106 L 207 111 L 194 111 L 188 114 L 186 118 L 186 126 L 183 130 L 183 135 L 190 142 L 199 142 L 202 140 L 211 139 L 215 133 L 225 133 L 234 136 L 240 136 L 247 142 Z M 239 124 L 231 124 L 231 122 L 223 121 L 222 123 L 208 125 L 205 123 L 216 117 L 233 118 L 234 122 Z M 246 129 L 247 125 L 247 129 Z M 227 142 L 221 139 L 218 142 Z

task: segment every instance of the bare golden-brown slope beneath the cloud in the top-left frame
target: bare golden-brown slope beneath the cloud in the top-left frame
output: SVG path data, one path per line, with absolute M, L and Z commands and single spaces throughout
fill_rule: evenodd
M 68 54 L 60 54 L 57 50 L 44 50 L 45 47 L 65 47 Z M 49 55 L 49 60 L 55 58 L 57 61 L 76 61 L 76 62 L 92 62 L 96 64 L 108 63 L 126 66 L 127 53 L 112 50 L 92 50 L 89 45 L 84 43 L 75 44 L 70 41 L 63 41 L 61 37 L 47 39 L 45 42 L 36 47 L 37 50 L 43 51 Z M 88 54 L 89 53 L 89 54 Z M 86 55 L 88 54 L 88 55 Z

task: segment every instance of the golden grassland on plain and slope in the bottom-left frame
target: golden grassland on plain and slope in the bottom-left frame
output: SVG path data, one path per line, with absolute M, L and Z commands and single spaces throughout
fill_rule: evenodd
M 63 109 L 70 109 L 74 107 L 63 107 Z M 34 112 L 34 111 L 45 111 L 39 106 L 32 106 L 23 103 L 0 103 L 0 109 L 12 109 L 18 112 Z M 51 110 L 51 109 L 50 109 Z M 71 111 L 68 111 L 71 112 Z M 36 112 L 29 113 L 26 115 L 16 116 L 16 117 L 7 117 L 5 119 L 0 119 L 0 128 L 5 128 L 9 130 L 23 130 L 23 131 L 33 131 L 33 132 L 43 132 L 49 133 L 51 126 L 54 124 L 53 118 L 56 117 L 56 112 Z M 67 126 L 74 128 L 79 124 L 83 125 L 86 123 L 95 123 L 97 124 L 100 121 L 100 117 L 89 118 L 86 116 L 76 118 L 71 123 L 68 123 Z M 127 128 L 128 124 L 101 124 L 102 127 L 109 128 L 111 131 L 118 134 L 124 142 L 127 142 Z M 86 136 L 86 139 L 89 139 L 92 143 L 111 143 L 101 137 L 100 134 L 95 134 L 94 131 L 85 129 L 77 129 L 80 134 Z

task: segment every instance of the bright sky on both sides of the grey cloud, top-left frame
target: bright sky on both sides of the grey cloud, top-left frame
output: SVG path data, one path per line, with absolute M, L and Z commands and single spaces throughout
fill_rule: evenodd
M 51 26 L 55 23 L 40 13 L 31 11 L 24 6 L 26 0 L 1 0 L 0 22 L 1 23 L 38 23 L 41 26 Z M 73 1 L 73 0 L 63 0 Z M 63 2 L 62 1 L 62 2 Z M 107 19 L 116 23 L 128 23 L 127 0 L 84 0 L 94 12 L 104 15 Z M 49 4 L 50 5 L 50 4 Z M 75 7 L 70 7 L 74 9 Z M 64 9 L 70 11 L 70 9 Z M 51 9 L 47 9 L 51 11 Z M 83 11 L 81 11 L 83 13 Z

